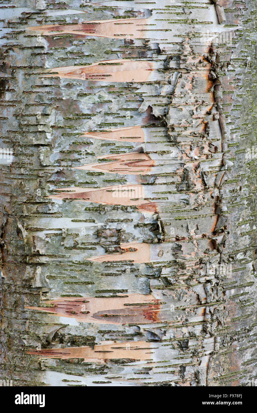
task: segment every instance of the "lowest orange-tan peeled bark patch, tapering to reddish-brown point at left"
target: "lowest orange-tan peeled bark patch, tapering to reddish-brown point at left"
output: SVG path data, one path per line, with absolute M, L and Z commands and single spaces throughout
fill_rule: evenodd
M 69 349 L 44 349 L 28 351 L 28 354 L 34 354 L 40 357 L 49 358 L 83 358 L 86 361 L 96 361 L 106 363 L 112 359 L 130 359 L 132 360 L 152 360 L 154 357 L 154 344 L 144 341 L 136 343 L 108 343 L 90 347 L 70 347 Z

